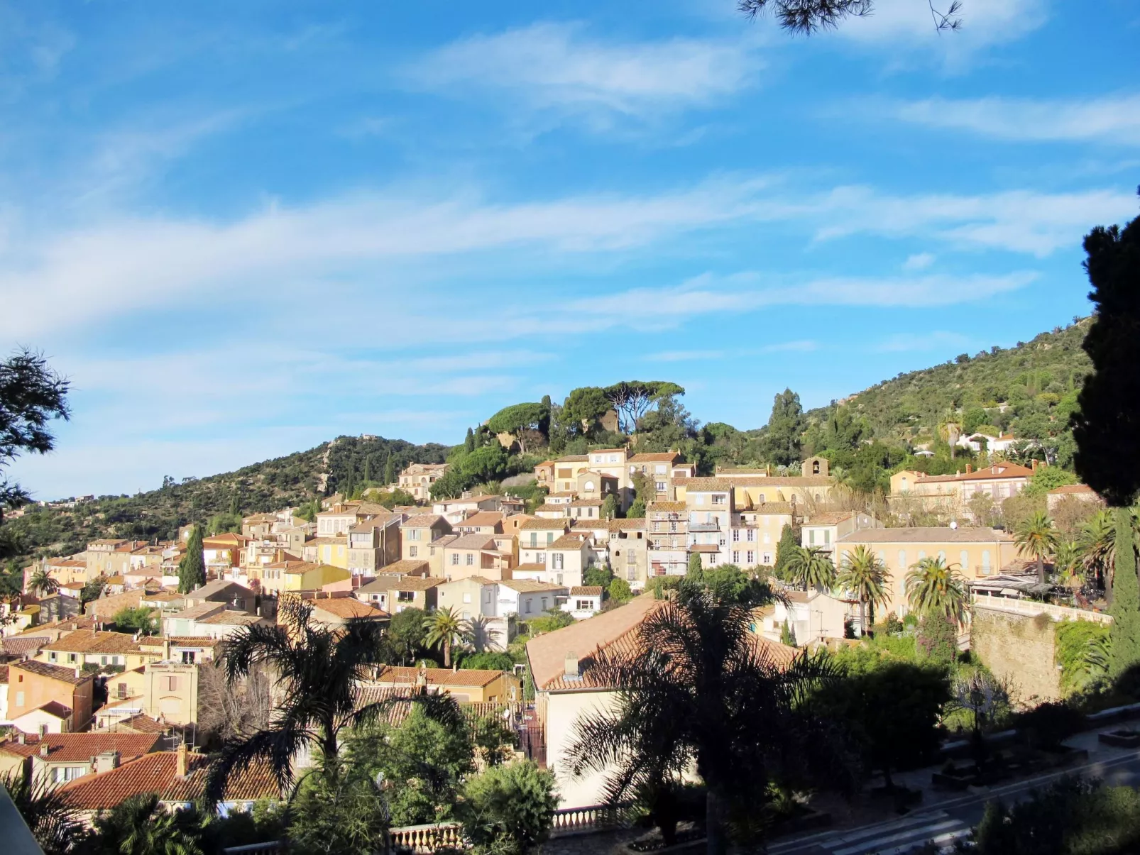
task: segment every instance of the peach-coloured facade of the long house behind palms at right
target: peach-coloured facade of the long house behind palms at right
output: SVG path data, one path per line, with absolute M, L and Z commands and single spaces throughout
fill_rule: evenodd
M 865 546 L 887 568 L 889 601 L 880 609 L 906 614 L 906 573 L 925 557 L 938 557 L 959 569 L 967 581 L 994 576 L 1017 559 L 1013 538 L 985 528 L 870 528 L 853 531 L 836 542 L 836 562 Z

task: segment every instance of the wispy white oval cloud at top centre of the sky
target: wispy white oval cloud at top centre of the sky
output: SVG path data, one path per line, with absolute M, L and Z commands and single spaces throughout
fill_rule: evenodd
M 646 120 L 716 103 L 748 85 L 758 68 L 739 41 L 603 42 L 580 25 L 544 23 L 454 42 L 409 75 L 429 89 L 508 92 L 530 109 L 608 125 L 618 116 Z

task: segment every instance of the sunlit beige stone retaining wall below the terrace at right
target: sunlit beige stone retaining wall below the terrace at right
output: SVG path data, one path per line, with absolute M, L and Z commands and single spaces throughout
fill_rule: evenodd
M 1016 701 L 1056 700 L 1061 692 L 1053 627 L 1048 614 L 1012 614 L 975 604 L 970 651 L 1012 684 Z

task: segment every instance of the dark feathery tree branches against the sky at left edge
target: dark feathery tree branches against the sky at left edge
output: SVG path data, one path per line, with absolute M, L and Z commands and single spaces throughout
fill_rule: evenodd
M 71 416 L 68 386 L 42 353 L 27 348 L 0 361 L 0 523 L 5 507 L 22 505 L 28 498 L 19 484 L 3 477 L 3 471 L 25 451 L 47 454 L 55 447 L 48 423 Z M 0 546 L 3 543 L 0 540 Z M 2 557 L 7 556 L 0 554 Z

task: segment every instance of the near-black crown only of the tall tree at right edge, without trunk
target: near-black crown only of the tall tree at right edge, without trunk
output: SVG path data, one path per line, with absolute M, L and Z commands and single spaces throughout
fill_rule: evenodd
M 1073 416 L 1076 471 L 1114 507 L 1140 492 L 1140 217 L 1084 238 L 1096 303 L 1084 350 L 1092 360 Z

